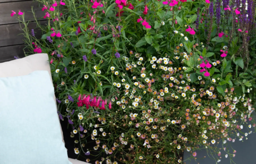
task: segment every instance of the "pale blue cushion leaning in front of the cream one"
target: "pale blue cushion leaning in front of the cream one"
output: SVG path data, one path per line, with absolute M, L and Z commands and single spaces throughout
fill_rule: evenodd
M 0 163 L 72 164 L 47 71 L 0 78 Z

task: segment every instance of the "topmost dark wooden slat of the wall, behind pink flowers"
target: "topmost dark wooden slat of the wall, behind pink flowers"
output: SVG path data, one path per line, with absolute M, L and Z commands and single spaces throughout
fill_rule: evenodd
M 9 23 L 18 23 L 17 14 L 11 17 L 11 11 L 15 11 L 18 13 L 19 9 L 25 15 L 25 20 L 33 20 L 33 13 L 28 12 L 31 11 L 31 6 L 35 10 L 35 14 L 37 18 L 43 17 L 45 12 L 39 7 L 37 2 L 33 1 L 21 1 L 21 2 L 8 2 L 8 3 L 0 3 L 0 24 L 9 24 Z

